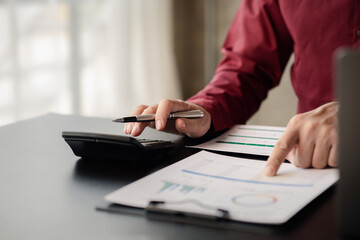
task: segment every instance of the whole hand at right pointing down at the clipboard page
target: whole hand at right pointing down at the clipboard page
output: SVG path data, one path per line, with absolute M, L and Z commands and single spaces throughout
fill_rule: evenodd
M 264 174 L 274 176 L 288 159 L 302 168 L 337 166 L 339 105 L 331 102 L 294 116 L 267 160 Z

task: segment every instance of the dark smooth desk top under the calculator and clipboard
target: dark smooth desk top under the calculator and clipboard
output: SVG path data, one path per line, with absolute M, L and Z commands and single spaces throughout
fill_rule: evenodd
M 180 160 L 182 137 L 147 129 L 144 138 L 179 147 L 148 164 L 88 162 L 74 156 L 64 130 L 122 134 L 109 119 L 48 114 L 0 128 L 0 239 L 336 239 L 336 195 L 326 191 L 287 224 L 232 230 L 96 211 L 103 197 Z

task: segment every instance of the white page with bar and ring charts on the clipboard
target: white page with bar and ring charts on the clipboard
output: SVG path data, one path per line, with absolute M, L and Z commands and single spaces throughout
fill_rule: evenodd
M 281 224 L 338 180 L 337 169 L 301 169 L 283 163 L 277 176 L 262 174 L 265 161 L 201 151 L 105 197 L 112 203 L 216 215 L 236 221 Z

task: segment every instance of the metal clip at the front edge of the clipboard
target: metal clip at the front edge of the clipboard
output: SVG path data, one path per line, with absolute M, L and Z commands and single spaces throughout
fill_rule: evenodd
M 188 211 L 179 211 L 172 210 L 167 208 L 161 208 L 161 206 L 165 205 L 165 201 L 149 201 L 148 206 L 145 208 L 147 215 L 168 215 L 173 217 L 190 217 L 190 218 L 199 218 L 199 219 L 208 219 L 208 220 L 216 220 L 216 221 L 227 221 L 230 220 L 230 214 L 228 210 L 214 208 L 207 205 L 202 204 L 201 202 L 195 199 L 186 199 L 182 201 L 171 201 L 167 202 L 168 204 L 184 204 L 184 203 L 193 203 L 201 208 L 213 210 L 215 214 L 204 214 L 204 213 L 194 213 Z

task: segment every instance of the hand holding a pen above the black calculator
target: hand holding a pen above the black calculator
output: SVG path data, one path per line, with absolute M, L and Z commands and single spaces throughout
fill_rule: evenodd
M 167 121 L 170 112 L 200 109 L 204 112 L 204 117 L 197 119 L 179 118 L 175 121 Z M 207 133 L 211 125 L 211 117 L 204 108 L 182 100 L 162 100 L 154 106 L 140 105 L 135 108 L 132 115 L 155 114 L 155 122 L 126 123 L 125 134 L 138 136 L 146 126 L 153 127 L 159 131 L 184 133 L 189 137 L 201 137 Z

